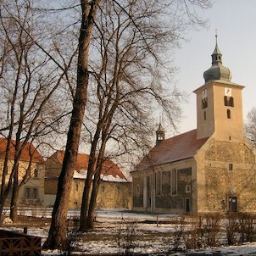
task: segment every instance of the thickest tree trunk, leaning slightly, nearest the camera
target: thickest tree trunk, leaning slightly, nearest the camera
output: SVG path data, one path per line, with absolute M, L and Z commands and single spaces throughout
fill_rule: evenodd
M 92 36 L 93 19 L 100 0 L 81 0 L 81 31 L 79 37 L 79 53 L 77 63 L 77 84 L 70 129 L 61 173 L 58 178 L 58 191 L 53 206 L 52 223 L 43 248 L 64 248 L 66 241 L 66 220 L 70 199 L 71 181 L 75 171 L 76 157 L 81 136 L 81 124 L 86 109 L 88 86 L 89 45 Z

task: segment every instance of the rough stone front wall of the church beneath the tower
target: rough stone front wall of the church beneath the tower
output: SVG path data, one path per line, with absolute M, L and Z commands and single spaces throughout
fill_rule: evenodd
M 204 153 L 205 170 L 198 169 L 204 175 L 204 184 L 198 187 L 204 203 L 199 205 L 198 213 L 233 211 L 232 198 L 237 200 L 238 212 L 255 212 L 256 165 L 252 148 L 242 142 L 212 139 Z

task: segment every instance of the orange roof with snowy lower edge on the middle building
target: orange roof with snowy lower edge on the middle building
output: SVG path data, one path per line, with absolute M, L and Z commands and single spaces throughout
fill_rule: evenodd
M 64 159 L 64 151 L 57 151 L 56 153 L 53 153 L 53 156 L 51 158 L 54 158 L 54 157 L 57 158 L 59 164 L 62 164 Z M 75 170 L 78 172 L 80 170 L 87 170 L 88 163 L 89 163 L 89 155 L 84 153 L 78 153 L 76 164 L 75 164 Z M 121 179 L 125 179 L 127 181 L 125 175 L 120 170 L 119 166 L 117 164 L 114 164 L 114 162 L 110 159 L 106 159 L 103 162 L 102 174 L 112 175 L 114 177 L 119 176 Z

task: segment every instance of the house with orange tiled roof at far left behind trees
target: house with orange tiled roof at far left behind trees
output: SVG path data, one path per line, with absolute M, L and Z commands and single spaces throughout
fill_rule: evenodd
M 8 139 L 0 137 L 0 174 L 2 177 L 4 160 L 6 158 Z M 8 150 L 8 175 L 5 182 L 9 180 L 9 175 L 14 166 L 15 144 L 11 140 L 11 145 Z M 37 151 L 32 143 L 19 142 L 20 157 L 19 157 L 19 207 L 40 207 L 43 205 L 44 199 L 44 159 Z M 2 177 L 3 178 L 3 177 Z M 24 180 L 25 179 L 25 180 Z M 2 181 L 2 180 L 1 180 Z M 1 183 L 2 185 L 3 183 Z M 10 203 L 12 192 L 8 195 L 7 204 Z

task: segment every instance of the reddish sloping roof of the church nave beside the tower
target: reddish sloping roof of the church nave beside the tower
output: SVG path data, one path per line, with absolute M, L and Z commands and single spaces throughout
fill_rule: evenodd
M 136 170 L 145 170 L 159 164 L 167 164 L 182 159 L 190 159 L 202 147 L 207 138 L 197 139 L 197 130 L 187 131 L 160 142 L 147 153 Z

